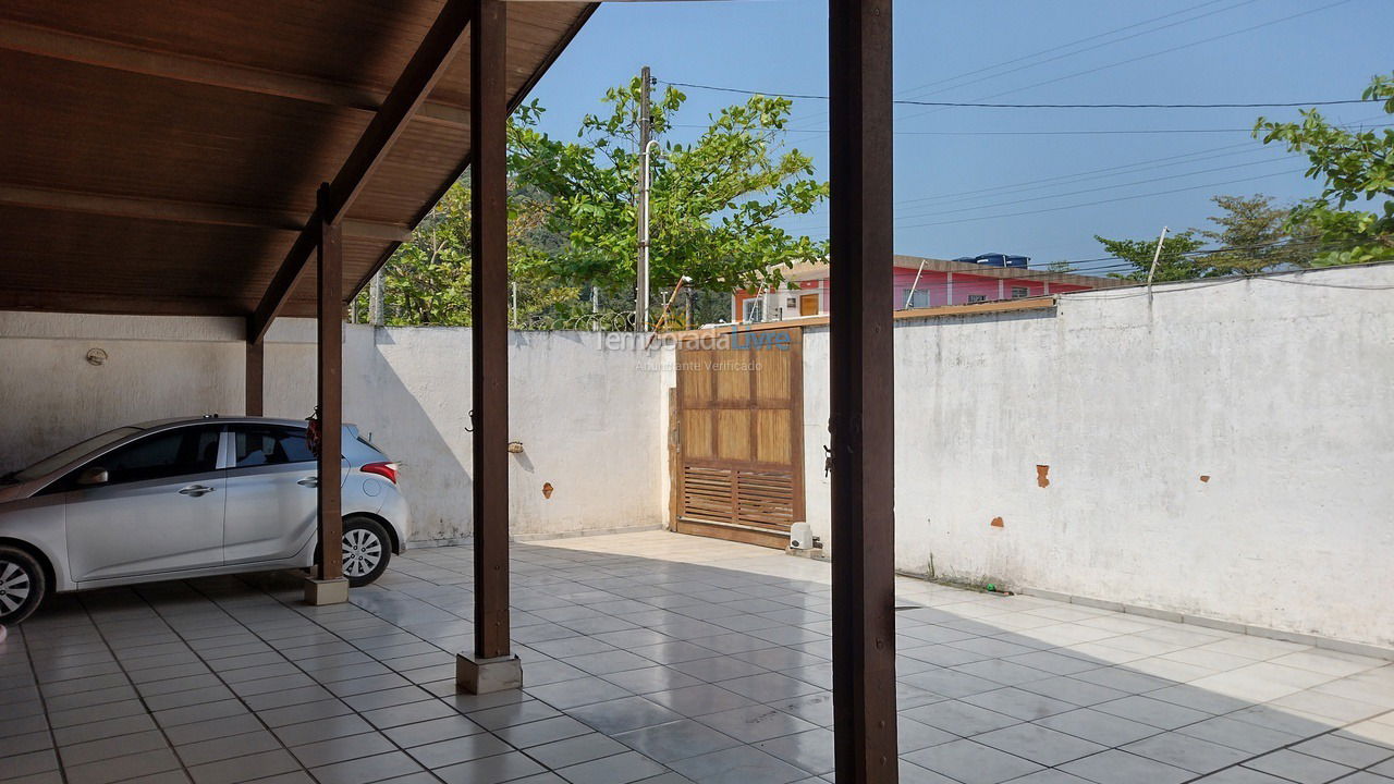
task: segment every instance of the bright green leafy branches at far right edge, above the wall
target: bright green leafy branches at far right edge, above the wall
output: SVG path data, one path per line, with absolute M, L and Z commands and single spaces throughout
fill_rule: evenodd
M 1363 98 L 1383 100 L 1384 112 L 1394 114 L 1394 74 L 1370 80 Z M 1263 144 L 1282 142 L 1292 152 L 1305 152 L 1312 162 L 1308 177 L 1323 180 L 1322 195 L 1299 204 L 1288 222 L 1294 232 L 1319 241 L 1312 265 L 1394 258 L 1394 128 L 1351 131 L 1309 109 L 1301 123 L 1259 117 L 1253 134 Z M 1374 204 L 1372 209 L 1351 209 L 1355 202 Z

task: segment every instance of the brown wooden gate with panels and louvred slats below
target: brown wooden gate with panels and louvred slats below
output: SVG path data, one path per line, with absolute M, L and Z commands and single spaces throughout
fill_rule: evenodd
M 786 547 L 804 519 L 803 331 L 718 332 L 676 361 L 675 529 Z

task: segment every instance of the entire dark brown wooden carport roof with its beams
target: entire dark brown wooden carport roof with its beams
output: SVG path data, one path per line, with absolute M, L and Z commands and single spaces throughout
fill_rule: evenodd
M 0 308 L 314 315 L 314 264 L 286 268 L 322 181 L 357 186 L 336 197 L 360 290 L 470 159 L 468 36 L 425 52 L 443 7 L 0 4 Z M 592 10 L 507 4 L 510 105 Z

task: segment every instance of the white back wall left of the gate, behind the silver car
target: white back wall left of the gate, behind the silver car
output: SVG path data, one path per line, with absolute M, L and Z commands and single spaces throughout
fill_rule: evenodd
M 344 332 L 344 419 L 403 465 L 410 538 L 467 536 L 470 331 Z M 314 410 L 314 338 L 311 321 L 273 325 L 266 416 Z M 524 449 L 509 456 L 514 536 L 662 523 L 662 379 L 631 342 L 604 340 L 510 333 L 510 437 Z M 106 361 L 89 364 L 89 349 Z M 0 312 L 0 472 L 121 424 L 240 414 L 244 361 L 241 319 Z

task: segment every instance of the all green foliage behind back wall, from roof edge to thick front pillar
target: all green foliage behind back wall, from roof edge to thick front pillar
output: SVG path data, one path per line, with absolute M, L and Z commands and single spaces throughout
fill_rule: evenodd
M 686 96 L 666 89 L 652 105 L 662 140 Z M 585 324 L 595 286 L 602 311 L 633 311 L 638 183 L 638 80 L 606 92 L 606 116 L 587 116 L 580 141 L 537 130 L 542 107 L 509 123 L 509 276 L 520 326 Z M 775 226 L 828 197 L 813 160 L 783 146 L 792 103 L 754 96 L 711 116 L 693 144 L 662 142 L 652 163 L 651 282 L 657 314 L 665 290 L 693 279 L 694 322 L 726 318 L 736 287 L 776 285 L 779 268 L 825 258 L 827 243 Z M 468 174 L 456 183 L 385 268 L 389 324 L 468 325 Z M 368 294 L 357 303 L 367 312 Z M 675 310 L 686 315 L 686 299 Z M 613 318 L 602 324 L 616 324 Z

